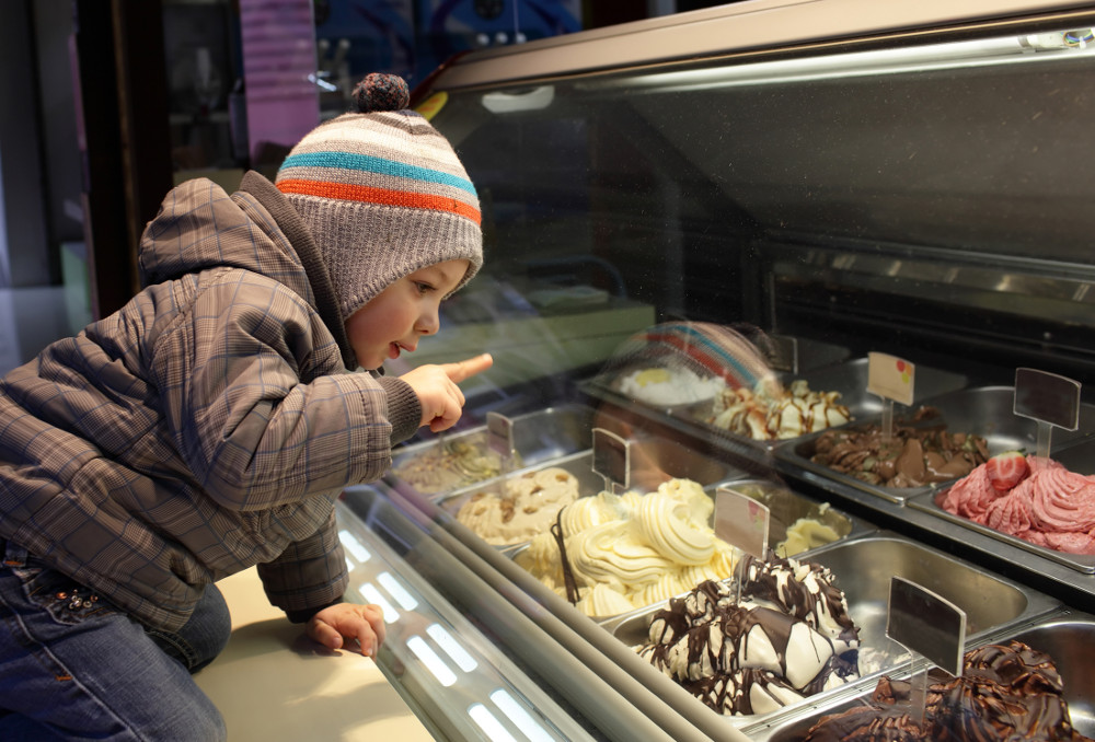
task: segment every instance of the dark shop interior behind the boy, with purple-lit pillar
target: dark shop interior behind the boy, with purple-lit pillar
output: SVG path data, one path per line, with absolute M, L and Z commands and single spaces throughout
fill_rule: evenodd
M 464 49 L 716 4 L 5 1 L 0 373 L 132 294 L 140 225 L 174 184 L 208 176 L 232 188 L 246 169 L 276 172 L 295 137 L 343 111 L 354 81 L 367 72 L 394 72 L 413 88 Z M 264 43 L 263 24 L 272 18 L 280 33 L 296 34 L 295 42 Z M 256 95 L 261 67 L 272 59 L 290 60 L 299 72 L 297 86 L 275 85 L 275 96 L 303 101 L 288 108 L 275 101 L 283 112 L 277 117 L 263 116 Z M 269 121 L 283 130 L 264 130 Z

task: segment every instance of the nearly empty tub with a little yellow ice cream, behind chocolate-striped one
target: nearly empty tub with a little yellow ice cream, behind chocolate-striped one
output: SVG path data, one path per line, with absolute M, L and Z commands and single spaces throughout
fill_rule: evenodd
M 854 538 L 876 529 L 864 520 L 818 502 L 770 479 L 740 479 L 730 486 L 768 506 L 769 544 L 777 556 L 802 555 L 835 541 Z

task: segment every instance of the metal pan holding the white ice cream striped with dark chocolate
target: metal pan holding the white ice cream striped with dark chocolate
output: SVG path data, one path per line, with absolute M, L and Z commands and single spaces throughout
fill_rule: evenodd
M 822 546 L 809 555 L 809 561 L 832 570 L 834 584 L 844 591 L 849 615 L 860 627 L 861 679 L 869 683 L 910 662 L 908 652 L 886 636 L 890 578 L 903 577 L 942 595 L 966 612 L 967 640 L 996 636 L 1007 626 L 1029 623 L 1060 607 L 1060 603 L 1018 582 L 994 575 L 970 563 L 925 546 L 904 536 L 880 532 L 861 538 Z M 627 646 L 643 644 L 657 611 L 662 604 L 604 622 L 602 626 Z M 874 679 L 874 680 L 871 680 Z M 826 699 L 844 696 L 849 687 L 838 687 L 809 697 L 769 715 L 727 717 L 735 724 L 760 724 L 765 719 L 783 718 L 794 709 L 812 707 Z M 742 729 L 748 733 L 748 730 Z

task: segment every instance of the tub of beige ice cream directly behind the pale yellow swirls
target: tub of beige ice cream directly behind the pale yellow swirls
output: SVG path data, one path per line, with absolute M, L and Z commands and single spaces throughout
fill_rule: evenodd
M 713 490 L 719 483 L 746 476 L 726 462 L 667 438 L 636 439 L 630 445 L 630 489 L 637 492 L 653 491 L 672 478 L 691 479 Z M 512 550 L 548 531 L 563 506 L 606 489 L 606 480 L 593 472 L 592 463 L 591 450 L 579 451 L 543 466 L 526 467 L 464 487 L 436 501 L 487 543 Z M 557 492 L 560 488 L 568 491 Z M 470 512 L 473 505 L 481 512 Z

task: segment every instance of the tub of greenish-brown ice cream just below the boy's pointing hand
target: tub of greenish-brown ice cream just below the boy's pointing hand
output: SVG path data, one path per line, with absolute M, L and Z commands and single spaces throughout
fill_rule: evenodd
M 509 462 L 489 447 L 485 425 L 412 443 L 393 453 L 392 466 L 384 478 L 420 495 L 446 495 L 508 471 L 588 450 L 592 444 L 595 415 L 591 407 L 570 404 L 512 417 L 510 429 L 516 455 Z

